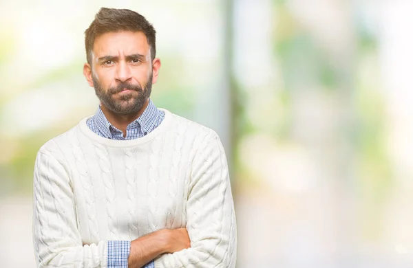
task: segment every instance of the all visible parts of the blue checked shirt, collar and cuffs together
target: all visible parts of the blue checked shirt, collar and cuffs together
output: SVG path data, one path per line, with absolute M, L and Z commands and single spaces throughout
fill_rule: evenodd
M 134 122 L 127 125 L 126 137 L 123 132 L 107 121 L 105 114 L 100 107 L 96 114 L 87 120 L 87 126 L 94 133 L 107 139 L 138 139 L 156 129 L 165 118 L 165 112 L 156 108 L 155 104 L 149 100 L 149 104 L 142 115 Z M 129 258 L 131 241 L 107 241 L 107 267 L 127 268 L 127 258 Z M 153 260 L 144 268 L 155 268 Z

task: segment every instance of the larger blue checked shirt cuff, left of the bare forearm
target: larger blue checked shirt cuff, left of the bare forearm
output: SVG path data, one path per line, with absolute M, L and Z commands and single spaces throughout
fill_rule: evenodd
M 131 241 L 107 241 L 107 268 L 127 268 Z

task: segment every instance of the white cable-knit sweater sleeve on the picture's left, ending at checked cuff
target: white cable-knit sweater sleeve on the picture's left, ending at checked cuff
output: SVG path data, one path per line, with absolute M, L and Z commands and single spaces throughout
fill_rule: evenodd
M 107 241 L 83 245 L 67 170 L 41 148 L 34 166 L 33 243 L 38 267 L 107 267 Z

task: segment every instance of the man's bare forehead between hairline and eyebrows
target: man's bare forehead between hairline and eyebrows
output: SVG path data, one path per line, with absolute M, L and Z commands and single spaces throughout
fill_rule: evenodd
M 96 37 L 93 46 L 96 56 L 118 54 L 149 54 L 149 45 L 143 32 L 107 32 Z

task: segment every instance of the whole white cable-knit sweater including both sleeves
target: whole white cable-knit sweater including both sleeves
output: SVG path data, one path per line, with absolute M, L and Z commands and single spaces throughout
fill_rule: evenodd
M 34 168 L 39 267 L 107 267 L 107 241 L 187 227 L 191 247 L 155 267 L 235 267 L 236 224 L 218 135 L 165 111 L 157 129 L 117 141 L 87 118 L 41 147 Z

